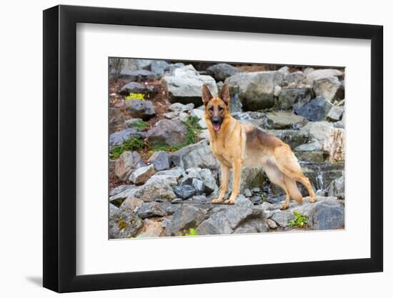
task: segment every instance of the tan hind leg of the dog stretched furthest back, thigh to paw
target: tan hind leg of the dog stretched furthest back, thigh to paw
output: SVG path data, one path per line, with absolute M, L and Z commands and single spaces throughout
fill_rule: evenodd
M 294 156 L 291 148 L 289 146 L 281 146 L 275 149 L 274 157 L 280 171 L 290 179 L 302 183 L 309 192 L 310 202 L 315 202 L 317 196 L 314 193 L 314 189 L 312 189 L 309 179 L 304 176 L 302 168 L 297 162 L 297 158 Z

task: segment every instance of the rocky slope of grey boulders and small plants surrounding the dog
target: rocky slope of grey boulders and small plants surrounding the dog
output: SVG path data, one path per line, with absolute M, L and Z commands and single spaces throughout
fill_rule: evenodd
M 344 228 L 344 70 L 111 59 L 111 238 Z M 289 144 L 317 192 L 291 201 L 263 169 L 244 169 L 235 205 L 211 204 L 202 84 L 231 91 L 232 115 Z M 304 196 L 307 191 L 299 185 Z

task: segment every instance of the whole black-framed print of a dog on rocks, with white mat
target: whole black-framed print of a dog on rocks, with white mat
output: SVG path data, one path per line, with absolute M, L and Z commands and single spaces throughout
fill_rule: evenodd
M 44 11 L 44 287 L 382 271 L 382 46 L 363 24 Z

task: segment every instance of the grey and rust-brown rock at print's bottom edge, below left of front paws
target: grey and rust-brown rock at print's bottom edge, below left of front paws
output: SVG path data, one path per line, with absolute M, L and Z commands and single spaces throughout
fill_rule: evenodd
M 183 236 L 189 229 L 195 229 L 206 217 L 207 211 L 189 204 L 181 204 L 172 215 L 171 222 L 166 224 L 166 236 Z

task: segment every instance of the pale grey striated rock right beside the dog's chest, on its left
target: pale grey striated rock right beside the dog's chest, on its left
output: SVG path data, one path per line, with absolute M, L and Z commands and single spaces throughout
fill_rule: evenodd
M 197 144 L 184 146 L 173 152 L 171 162 L 183 169 L 200 167 L 202 169 L 218 169 L 219 164 L 210 150 L 207 141 L 199 141 Z

